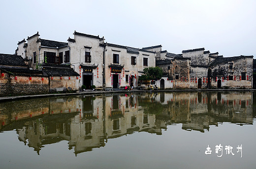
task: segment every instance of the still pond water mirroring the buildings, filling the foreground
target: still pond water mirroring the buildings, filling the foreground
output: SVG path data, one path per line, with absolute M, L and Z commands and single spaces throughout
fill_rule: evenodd
M 255 169 L 255 92 L 0 103 L 0 168 Z

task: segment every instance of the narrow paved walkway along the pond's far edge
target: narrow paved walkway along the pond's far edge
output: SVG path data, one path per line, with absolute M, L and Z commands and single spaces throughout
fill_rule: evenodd
M 104 94 L 104 93 L 133 93 L 133 92 L 185 92 L 185 91 L 256 91 L 256 89 L 183 89 L 183 90 L 138 90 L 133 89 L 132 91 L 126 90 L 112 90 L 112 91 L 92 91 L 86 90 L 77 93 L 62 93 L 62 94 L 37 94 L 37 95 L 26 95 L 26 96 L 5 96 L 0 97 L 0 102 L 12 101 L 12 100 L 22 100 L 31 98 L 42 98 L 42 97 L 56 97 L 56 96 L 70 96 L 70 95 L 92 95 L 92 94 Z

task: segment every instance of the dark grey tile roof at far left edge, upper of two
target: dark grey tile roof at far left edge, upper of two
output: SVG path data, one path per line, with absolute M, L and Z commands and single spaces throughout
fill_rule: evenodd
M 27 66 L 22 56 L 0 54 L 0 65 Z

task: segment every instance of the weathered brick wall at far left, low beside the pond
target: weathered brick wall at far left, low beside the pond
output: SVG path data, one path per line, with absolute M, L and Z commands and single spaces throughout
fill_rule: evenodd
M 2 72 L 0 72 L 2 73 Z M 0 77 L 0 96 L 10 95 L 30 95 L 30 94 L 44 94 L 49 92 L 49 81 L 47 77 L 32 76 L 15 76 L 3 73 Z

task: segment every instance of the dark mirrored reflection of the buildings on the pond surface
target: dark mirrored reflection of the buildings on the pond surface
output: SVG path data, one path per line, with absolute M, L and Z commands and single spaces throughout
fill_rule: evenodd
M 253 124 L 255 92 L 159 92 L 43 98 L 0 103 L 0 131 L 16 130 L 39 155 L 68 141 L 78 153 L 134 132 L 162 134 L 168 125 L 205 132 L 223 122 Z

